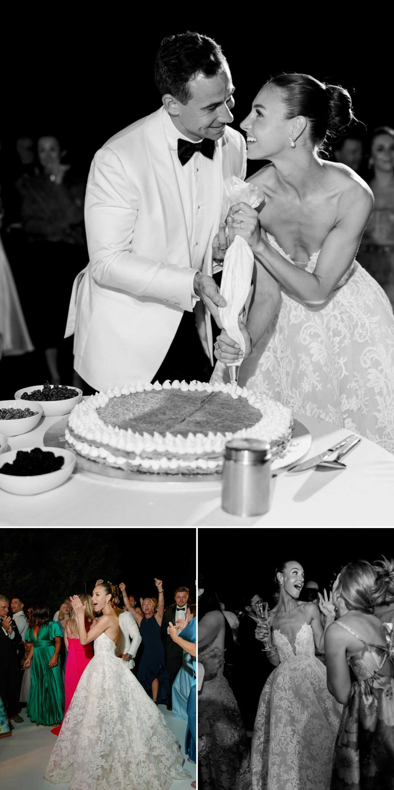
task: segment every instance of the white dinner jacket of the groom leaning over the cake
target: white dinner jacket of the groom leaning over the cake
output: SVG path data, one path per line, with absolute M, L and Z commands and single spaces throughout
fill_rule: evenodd
M 89 265 L 72 290 L 65 337 L 74 335 L 74 367 L 96 389 L 151 381 L 192 309 L 188 231 L 163 123 L 164 108 L 122 130 L 95 154 L 87 182 Z M 212 274 L 211 242 L 229 200 L 223 182 L 246 175 L 243 137 L 227 127 L 215 156 L 221 203 L 213 218 L 203 273 Z M 197 327 L 213 362 L 210 314 L 197 303 Z

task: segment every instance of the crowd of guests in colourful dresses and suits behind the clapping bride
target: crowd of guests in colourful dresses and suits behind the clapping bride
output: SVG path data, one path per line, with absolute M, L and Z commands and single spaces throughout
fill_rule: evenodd
M 105 585 L 102 579 L 97 585 Z M 110 582 L 107 583 L 110 585 Z M 165 705 L 175 717 L 188 721 L 185 751 L 195 762 L 195 604 L 189 590 L 174 591 L 174 603 L 165 608 L 162 581 L 154 579 L 156 595 L 140 598 L 126 592 L 125 583 L 111 585 L 111 607 L 119 622 L 116 652 L 136 675 L 156 705 Z M 91 595 L 80 595 L 86 605 L 88 632 L 97 623 Z M 0 737 L 11 735 L 13 723 L 24 719 L 51 725 L 58 735 L 61 722 L 87 664 L 94 644 L 80 644 L 78 622 L 69 597 L 54 615 L 45 603 L 30 604 L 0 595 Z M 11 611 L 9 611 L 9 609 Z M 182 632 L 188 627 L 188 640 Z M 195 653 L 195 650 L 194 650 Z M 22 678 L 21 678 L 22 676 Z M 54 726 L 55 725 L 55 726 Z

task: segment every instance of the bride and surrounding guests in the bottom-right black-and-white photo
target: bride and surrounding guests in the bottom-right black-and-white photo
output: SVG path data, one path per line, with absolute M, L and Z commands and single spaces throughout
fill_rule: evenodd
M 348 562 L 329 595 L 292 558 L 275 580 L 265 619 L 199 574 L 200 790 L 392 790 L 394 560 Z

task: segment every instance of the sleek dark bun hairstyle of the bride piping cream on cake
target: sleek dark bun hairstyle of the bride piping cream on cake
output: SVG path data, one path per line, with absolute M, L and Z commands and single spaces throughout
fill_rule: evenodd
M 327 134 L 338 134 L 355 117 L 346 88 L 325 85 L 310 74 L 278 74 L 266 85 L 279 91 L 286 111 L 285 119 L 304 115 L 314 147 L 322 145 Z

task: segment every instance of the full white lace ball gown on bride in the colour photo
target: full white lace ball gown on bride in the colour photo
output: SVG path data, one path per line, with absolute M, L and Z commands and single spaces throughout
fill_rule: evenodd
M 100 634 L 44 779 L 69 790 L 168 790 L 190 778 L 176 736 L 113 641 Z

